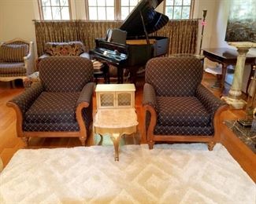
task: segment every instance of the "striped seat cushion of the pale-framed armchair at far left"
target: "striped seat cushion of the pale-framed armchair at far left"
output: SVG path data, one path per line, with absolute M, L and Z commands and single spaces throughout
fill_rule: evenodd
M 24 63 L 0 63 L 0 75 L 25 75 Z

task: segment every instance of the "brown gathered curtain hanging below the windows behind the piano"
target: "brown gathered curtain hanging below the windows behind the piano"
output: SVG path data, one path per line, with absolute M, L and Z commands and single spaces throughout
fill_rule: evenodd
M 46 42 L 81 41 L 88 51 L 95 47 L 95 38 L 105 38 L 107 29 L 120 26 L 121 21 L 35 20 L 38 56 L 43 55 Z M 195 53 L 198 20 L 170 20 L 153 35 L 169 38 L 169 54 Z

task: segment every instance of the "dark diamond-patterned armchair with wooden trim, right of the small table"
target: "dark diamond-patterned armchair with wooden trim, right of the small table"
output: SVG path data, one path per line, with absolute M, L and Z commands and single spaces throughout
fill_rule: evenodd
M 202 86 L 202 63 L 195 57 L 159 57 L 148 61 L 143 89 L 145 133 L 155 142 L 220 140 L 219 116 L 228 106 Z

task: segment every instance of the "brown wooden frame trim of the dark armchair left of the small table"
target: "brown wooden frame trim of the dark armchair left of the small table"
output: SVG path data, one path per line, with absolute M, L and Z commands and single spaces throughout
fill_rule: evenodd
M 17 122 L 16 122 L 16 129 L 17 129 L 17 137 L 21 137 L 24 141 L 26 147 L 28 147 L 28 140 L 29 137 L 79 137 L 81 144 L 85 146 L 85 141 L 87 140 L 87 133 L 89 133 L 89 129 L 87 131 L 85 122 L 83 121 L 82 110 L 84 107 L 89 107 L 89 103 L 82 102 L 78 104 L 76 107 L 76 121 L 80 127 L 80 131 L 54 131 L 54 132 L 32 132 L 32 131 L 23 131 L 22 124 L 23 124 L 23 115 L 20 111 L 20 107 L 13 102 L 8 102 L 7 107 L 13 107 L 14 111 L 17 115 Z

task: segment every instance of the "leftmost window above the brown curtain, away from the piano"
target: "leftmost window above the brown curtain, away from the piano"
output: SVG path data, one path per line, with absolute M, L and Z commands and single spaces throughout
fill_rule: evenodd
M 69 0 L 39 0 L 42 20 L 70 20 Z

